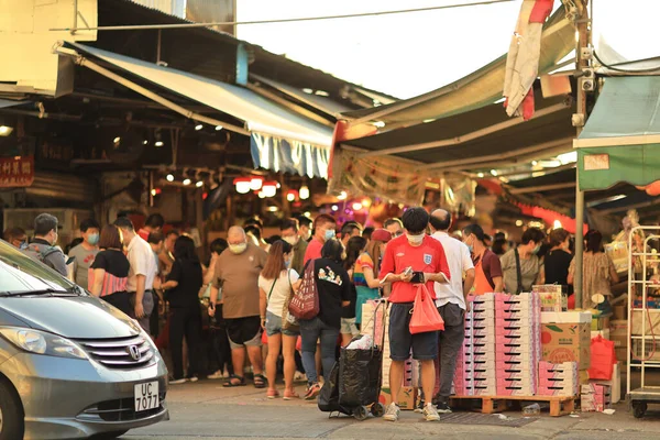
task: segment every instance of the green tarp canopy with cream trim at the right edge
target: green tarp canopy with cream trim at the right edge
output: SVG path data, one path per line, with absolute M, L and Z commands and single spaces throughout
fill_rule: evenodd
M 573 145 L 583 191 L 660 180 L 660 76 L 607 78 Z

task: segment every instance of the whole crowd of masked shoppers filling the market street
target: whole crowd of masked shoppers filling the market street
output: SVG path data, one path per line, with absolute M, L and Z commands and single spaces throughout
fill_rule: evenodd
M 57 219 L 47 213 L 35 219 L 32 241 L 20 228 L 6 231 L 3 238 L 135 319 L 154 338 L 167 304 L 164 333 L 172 355 L 170 384 L 195 382 L 205 373 L 202 322 L 208 319 L 208 358 L 217 365 L 209 378 L 224 378 L 226 387 L 244 386 L 249 360 L 252 382 L 256 388 L 267 387 L 267 398 L 280 397 L 276 380 L 282 371 L 282 397 L 288 400 L 300 398 L 294 388 L 299 370 L 308 383 L 304 397 L 315 399 L 321 377 L 327 378 L 337 362 L 338 348 L 359 336 L 364 305 L 386 296 L 393 362 L 384 373 L 389 374 L 394 403 L 385 419 L 392 421 L 398 419 L 396 402 L 410 353 L 420 364 L 419 411 L 427 420 L 451 411 L 452 374 L 463 343 L 469 294 L 520 294 L 535 284 L 570 286 L 574 280 L 571 235 L 565 230 L 547 237 L 529 228 L 515 245 L 503 233 L 491 239 L 479 224 L 468 224 L 457 239 L 450 232 L 452 216 L 442 209 L 429 215 L 424 208 L 409 208 L 382 229 L 346 222 L 339 234 L 337 220 L 329 215 L 318 216 L 314 223 L 307 217 L 284 219 L 280 235 L 267 240 L 261 221 L 250 219 L 243 227 L 230 228 L 227 240 L 210 244 L 207 265 L 190 237 L 164 232 L 164 227 L 160 215 L 150 216 L 139 231 L 128 217 L 102 228 L 85 220 L 79 242 L 68 255 L 57 245 Z M 618 276 L 602 240 L 597 231 L 585 237 L 583 289 L 607 302 Z M 548 252 L 541 251 L 543 246 Z M 319 312 L 295 320 L 288 302 L 304 278 L 316 286 Z M 414 301 L 422 285 L 436 300 L 443 331 L 410 332 Z M 208 304 L 210 318 L 202 312 L 202 302 Z M 579 306 L 597 305 L 585 295 Z

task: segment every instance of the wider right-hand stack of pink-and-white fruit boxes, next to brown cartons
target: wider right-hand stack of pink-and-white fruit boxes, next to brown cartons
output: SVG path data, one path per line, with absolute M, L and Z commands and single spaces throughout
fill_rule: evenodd
M 494 305 L 497 395 L 534 396 L 541 359 L 539 294 L 495 294 Z

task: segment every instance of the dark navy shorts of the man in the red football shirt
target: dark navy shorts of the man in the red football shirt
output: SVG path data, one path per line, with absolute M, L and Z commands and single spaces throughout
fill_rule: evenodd
M 393 361 L 429 361 L 438 358 L 438 332 L 410 334 L 414 302 L 394 302 L 389 308 L 389 358 Z

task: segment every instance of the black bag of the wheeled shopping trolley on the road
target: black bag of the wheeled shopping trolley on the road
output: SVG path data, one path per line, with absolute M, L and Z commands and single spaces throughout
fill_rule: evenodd
M 382 366 L 381 350 L 341 349 L 339 403 L 342 406 L 354 407 L 378 402 Z

